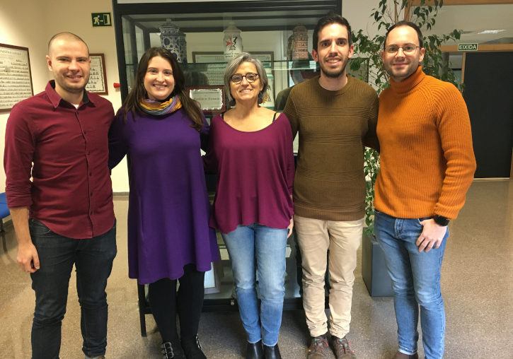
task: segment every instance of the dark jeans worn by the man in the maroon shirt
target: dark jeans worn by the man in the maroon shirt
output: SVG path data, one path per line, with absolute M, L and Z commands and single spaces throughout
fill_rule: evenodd
M 107 346 L 105 287 L 117 253 L 116 225 L 103 235 L 83 240 L 57 235 L 38 220 L 31 219 L 29 227 L 40 259 L 40 269 L 30 274 L 35 291 L 32 358 L 59 358 L 61 323 L 73 264 L 81 307 L 82 351 L 91 358 L 104 355 Z

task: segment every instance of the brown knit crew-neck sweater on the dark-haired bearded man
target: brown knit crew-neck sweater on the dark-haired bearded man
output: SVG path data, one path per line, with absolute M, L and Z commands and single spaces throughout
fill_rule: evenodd
M 378 96 L 367 83 L 347 76 L 330 91 L 319 77 L 292 88 L 284 113 L 299 132 L 294 213 L 321 220 L 364 216 L 364 145 L 379 148 Z

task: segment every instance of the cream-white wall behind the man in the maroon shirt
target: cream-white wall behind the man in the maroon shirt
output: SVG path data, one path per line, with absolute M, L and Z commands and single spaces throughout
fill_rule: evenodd
M 75 33 L 83 38 L 91 52 L 105 54 L 108 93 L 103 96 L 113 103 L 116 111 L 121 106 L 120 90 L 113 83 L 119 83 L 114 27 L 93 28 L 91 13 L 112 13 L 110 0 L 1 0 L 0 43 L 28 47 L 30 71 L 34 93 L 45 89 L 52 78 L 47 69 L 45 55 L 50 37 L 62 31 Z M 0 155 L 4 158 L 4 137 L 8 112 L 0 114 Z M 0 192 L 5 188 L 4 166 L 0 170 Z M 127 165 L 125 160 L 113 170 L 115 192 L 128 191 Z

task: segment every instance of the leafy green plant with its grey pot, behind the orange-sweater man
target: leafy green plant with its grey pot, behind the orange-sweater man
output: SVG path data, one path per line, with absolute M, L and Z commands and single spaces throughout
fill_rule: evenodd
M 431 5 L 432 4 L 432 5 Z M 409 0 L 380 0 L 370 15 L 374 18 L 379 34 L 371 37 L 358 30 L 352 34 L 352 42 L 355 45 L 356 57 L 350 61 L 350 71 L 357 72 L 362 64 L 368 66 L 369 83 L 377 90 L 378 94 L 388 86 L 388 73 L 386 73 L 381 61 L 381 50 L 385 41 L 386 29 L 398 23 L 404 18 L 405 13 L 410 13 L 410 21 L 416 23 L 424 35 L 425 57 L 422 62 L 422 70 L 430 76 L 449 81 L 460 90 L 461 84 L 457 83 L 454 71 L 449 66 L 449 61 L 444 58 L 439 49 L 445 42 L 459 40 L 461 30 L 453 30 L 446 35 L 430 33 L 436 23 L 436 17 L 443 0 L 430 1 L 425 5 L 425 0 L 420 1 L 420 6 L 415 6 L 410 13 Z M 379 172 L 379 153 L 371 148 L 366 148 L 364 153 L 364 171 L 367 178 L 367 196 L 365 198 L 365 225 L 362 240 L 362 277 L 371 296 L 391 296 L 391 281 L 386 271 L 384 255 L 374 236 L 374 183 Z

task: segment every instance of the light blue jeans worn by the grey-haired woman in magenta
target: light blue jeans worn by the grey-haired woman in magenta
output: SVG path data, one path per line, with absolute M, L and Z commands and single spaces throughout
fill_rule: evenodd
M 231 259 L 238 312 L 248 341 L 256 343 L 262 339 L 266 346 L 275 346 L 282 325 L 287 229 L 253 223 L 238 225 L 235 230 L 222 235 Z M 258 271 L 260 315 L 255 268 Z

